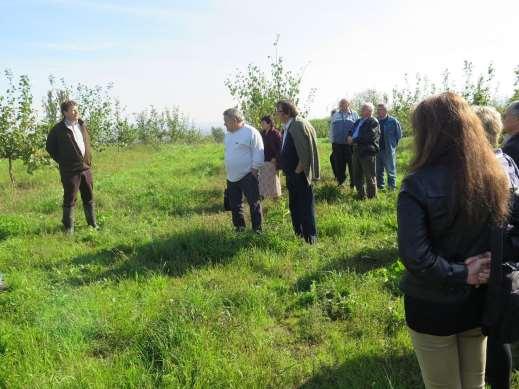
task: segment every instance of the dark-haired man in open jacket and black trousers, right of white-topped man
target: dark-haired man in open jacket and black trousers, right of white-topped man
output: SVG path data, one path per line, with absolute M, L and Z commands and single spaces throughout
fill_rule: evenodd
M 281 100 L 276 112 L 283 123 L 280 162 L 286 176 L 288 206 L 296 235 L 309 244 L 317 240 L 312 182 L 319 179 L 319 155 L 315 130 L 297 117 L 293 103 Z

